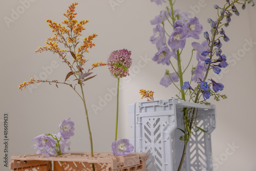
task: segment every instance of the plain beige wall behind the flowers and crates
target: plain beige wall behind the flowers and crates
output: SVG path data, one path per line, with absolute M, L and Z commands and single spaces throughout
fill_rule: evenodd
M 50 52 L 35 54 L 38 46 L 45 46 L 52 36 L 46 20 L 60 23 L 62 13 L 74 1 L 20 0 L 0 2 L 1 8 L 1 170 L 8 170 L 4 157 L 3 117 L 9 114 L 9 157 L 33 154 L 32 139 L 42 133 L 57 133 L 58 125 L 69 117 L 75 122 L 75 136 L 71 138 L 71 151 L 90 151 L 86 117 L 82 101 L 69 87 L 40 84 L 33 89 L 18 90 L 18 84 L 31 77 L 63 81 L 69 72 L 67 66 Z M 155 92 L 155 99 L 169 99 L 178 93 L 174 86 L 165 88 L 159 84 L 167 66 L 151 60 L 157 52 L 151 44 L 153 28 L 150 20 L 165 8 L 149 0 L 77 0 L 77 20 L 88 19 L 83 36 L 96 33 L 96 47 L 86 58 L 89 62 L 105 62 L 114 50 L 132 51 L 131 76 L 121 80 L 119 101 L 118 138 L 129 138 L 128 105 L 142 102 L 139 90 Z M 111 5 L 111 3 L 115 3 Z M 216 18 L 215 4 L 224 0 L 177 0 L 175 9 L 190 11 L 199 17 L 204 31 L 209 32 L 206 19 Z M 212 133 L 212 154 L 215 170 L 256 169 L 255 148 L 255 83 L 256 83 L 256 7 L 247 6 L 240 16 L 233 15 L 225 32 L 230 38 L 223 42 L 223 53 L 232 60 L 219 75 L 212 75 L 223 83 L 222 93 L 228 99 L 210 101 L 217 106 L 217 129 Z M 16 14 L 15 14 L 16 13 Z M 11 22 L 6 23 L 5 18 Z M 200 36 L 203 40 L 203 35 Z M 194 40 L 193 40 L 194 41 Z M 182 59 L 188 60 L 192 40 L 186 42 Z M 194 66 L 196 63 L 194 63 Z M 86 84 L 87 105 L 94 140 L 94 151 L 110 152 L 114 140 L 116 96 L 113 89 L 117 80 L 110 76 L 107 67 L 95 69 L 97 76 Z M 98 106 L 98 107 L 96 107 Z M 97 108 L 97 109 L 96 109 Z

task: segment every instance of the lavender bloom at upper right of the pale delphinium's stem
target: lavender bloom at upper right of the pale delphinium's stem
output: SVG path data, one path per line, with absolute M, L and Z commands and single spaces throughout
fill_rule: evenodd
M 193 37 L 195 39 L 199 39 L 199 34 L 202 33 L 203 26 L 199 24 L 199 20 L 197 17 L 190 18 L 185 25 L 189 28 L 188 37 Z

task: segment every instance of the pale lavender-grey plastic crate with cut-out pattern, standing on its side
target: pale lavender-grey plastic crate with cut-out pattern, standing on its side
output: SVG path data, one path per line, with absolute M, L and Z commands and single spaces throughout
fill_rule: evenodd
M 216 106 L 185 102 L 178 99 L 147 101 L 129 105 L 132 126 L 131 143 L 135 152 L 148 154 L 148 171 L 178 169 L 184 142 L 179 138 L 183 129 L 183 108 L 197 108 L 197 126 L 207 133 L 194 133 L 187 145 L 182 171 L 213 170 L 210 134 L 216 127 Z

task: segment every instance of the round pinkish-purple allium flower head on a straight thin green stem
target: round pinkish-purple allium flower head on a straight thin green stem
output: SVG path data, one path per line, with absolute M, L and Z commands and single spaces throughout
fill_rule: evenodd
M 111 76 L 117 78 L 117 104 L 116 104 L 116 131 L 115 141 L 117 141 L 117 128 L 118 128 L 118 100 L 119 100 L 119 79 L 129 76 L 129 68 L 132 65 L 131 51 L 122 49 L 114 51 L 110 54 L 107 65 L 109 67 Z

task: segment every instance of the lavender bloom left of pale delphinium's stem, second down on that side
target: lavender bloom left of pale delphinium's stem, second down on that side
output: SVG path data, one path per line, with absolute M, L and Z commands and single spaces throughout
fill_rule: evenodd
M 150 41 L 152 44 L 156 44 L 157 50 L 161 49 L 166 41 L 166 37 L 164 35 L 164 29 L 157 25 L 156 28 L 153 29 L 154 36 L 150 37 Z

